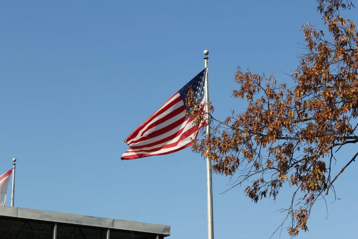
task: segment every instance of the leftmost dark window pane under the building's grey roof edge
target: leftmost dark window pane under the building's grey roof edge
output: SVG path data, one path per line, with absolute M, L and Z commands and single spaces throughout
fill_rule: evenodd
M 0 218 L 1 239 L 49 239 L 52 238 L 52 224 L 46 221 L 17 218 Z

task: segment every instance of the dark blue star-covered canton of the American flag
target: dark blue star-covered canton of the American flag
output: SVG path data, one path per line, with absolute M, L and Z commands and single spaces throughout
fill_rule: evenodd
M 182 96 L 185 109 L 189 111 L 189 107 L 185 102 L 185 97 L 188 94 L 189 86 L 192 86 L 192 90 L 194 91 L 194 95 L 199 102 L 202 102 L 204 99 L 204 85 L 205 85 L 205 74 L 206 69 L 202 70 L 197 76 L 195 76 L 191 81 L 189 81 L 182 89 L 179 90 L 180 96 Z

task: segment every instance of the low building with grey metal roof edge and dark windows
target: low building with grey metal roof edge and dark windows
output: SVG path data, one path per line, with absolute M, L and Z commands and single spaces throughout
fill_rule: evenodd
M 170 226 L 0 206 L 0 238 L 162 239 Z

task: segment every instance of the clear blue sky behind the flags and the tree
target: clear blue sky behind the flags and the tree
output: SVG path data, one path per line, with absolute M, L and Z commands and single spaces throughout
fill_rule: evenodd
M 215 115 L 233 100 L 236 67 L 290 84 L 300 27 L 319 28 L 315 1 L 2 1 L 0 173 L 16 168 L 15 206 L 171 225 L 207 238 L 206 166 L 190 149 L 121 161 L 123 140 L 204 67 Z M 348 13 L 358 21 L 358 11 Z M 283 73 L 282 73 L 283 72 Z M 351 152 L 338 157 L 337 170 Z M 348 159 L 349 158 L 349 159 Z M 297 238 L 355 238 L 357 162 L 318 201 Z M 11 183 L 11 181 L 10 181 Z M 215 238 L 269 238 L 290 190 L 253 204 L 213 175 Z M 10 205 L 11 186 L 7 205 Z M 274 238 L 278 238 L 276 234 Z M 281 238 L 287 238 L 284 230 Z

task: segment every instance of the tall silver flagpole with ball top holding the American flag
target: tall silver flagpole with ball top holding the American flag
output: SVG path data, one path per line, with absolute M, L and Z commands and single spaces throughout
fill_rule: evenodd
M 205 67 L 208 67 L 209 54 L 208 50 L 204 51 Z M 209 68 L 209 67 L 208 67 Z M 210 136 L 210 124 L 209 124 L 209 81 L 208 81 L 208 68 L 205 74 L 205 120 L 206 120 L 206 137 L 209 139 Z M 206 150 L 209 152 L 209 149 Z M 213 223 L 213 193 L 212 193 L 212 180 L 211 180 L 211 159 L 206 158 L 206 169 L 207 169 L 207 200 L 208 200 L 208 239 L 214 239 L 214 223 Z

